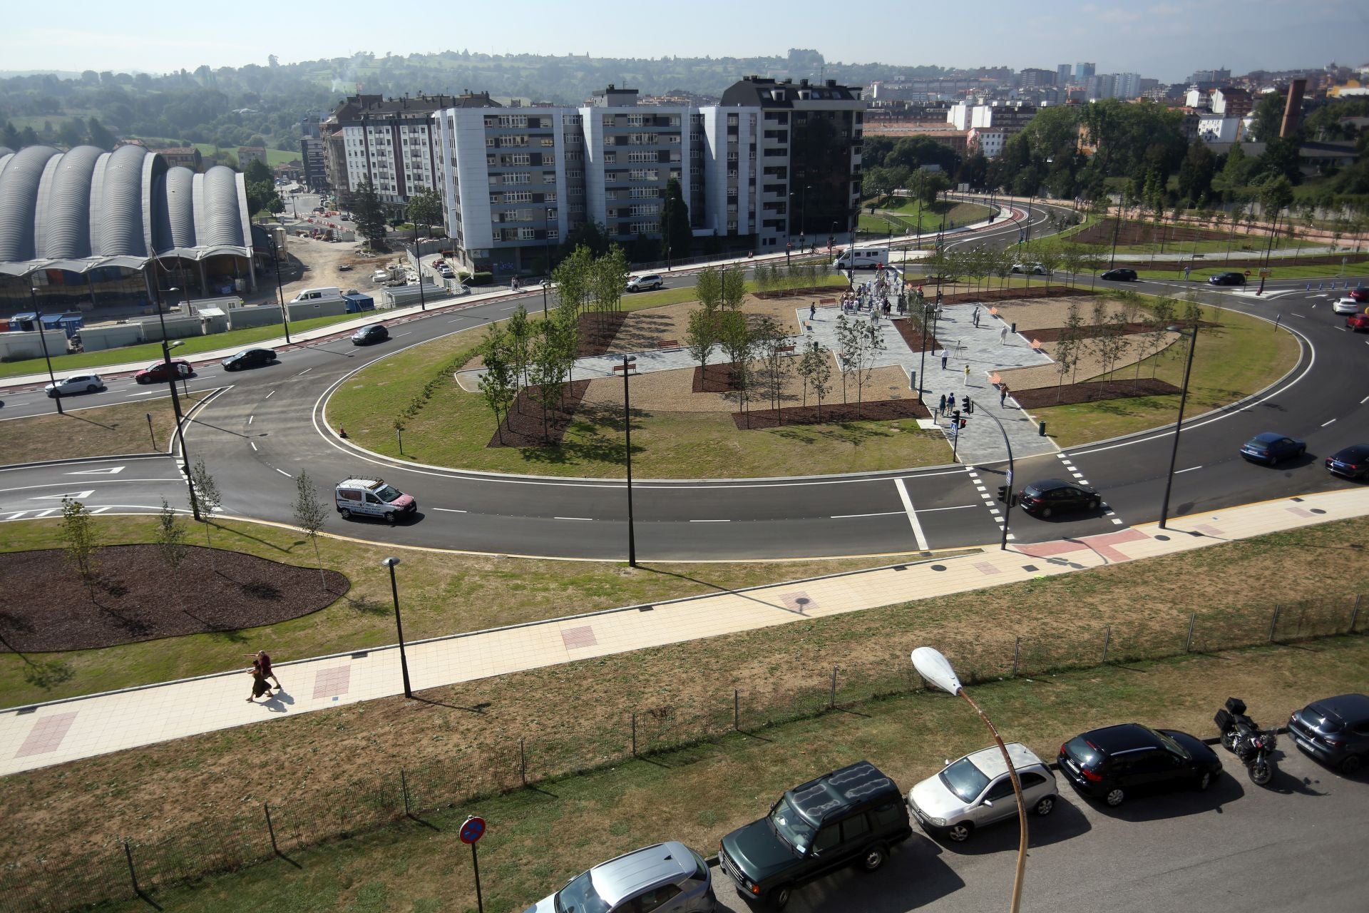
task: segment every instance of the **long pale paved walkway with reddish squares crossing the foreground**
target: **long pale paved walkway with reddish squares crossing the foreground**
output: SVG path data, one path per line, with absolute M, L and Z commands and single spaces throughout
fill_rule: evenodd
M 1279 498 L 1103 535 L 624 606 L 409 643 L 416 691 L 596 656 L 980 590 L 1369 515 L 1369 489 Z M 402 575 L 401 575 L 402 576 Z M 400 586 L 402 587 L 402 579 Z M 402 693 L 394 646 L 277 663 L 285 691 L 248 704 L 242 671 L 0 712 L 0 775 Z

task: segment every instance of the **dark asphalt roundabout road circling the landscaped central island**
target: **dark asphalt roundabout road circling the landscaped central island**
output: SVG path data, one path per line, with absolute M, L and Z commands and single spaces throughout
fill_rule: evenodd
M 1031 219 L 1047 220 L 1034 207 Z M 953 238 L 950 244 L 1016 244 L 1019 224 Z M 689 272 L 668 274 L 667 286 L 693 283 Z M 1110 283 L 1101 283 L 1110 285 Z M 1303 341 L 1298 367 L 1251 402 L 1186 422 L 1173 482 L 1170 516 L 1261 498 L 1354 485 L 1329 476 L 1320 457 L 1369 433 L 1366 338 L 1343 329 L 1327 293 L 1305 283 L 1269 283 L 1272 300 L 1217 292 L 1201 282 L 1139 282 L 1139 290 L 1197 290 L 1205 301 L 1279 315 Z M 522 296 L 528 308 L 541 290 Z M 357 348 L 346 338 L 279 350 L 268 367 L 225 374 L 208 365 L 190 389 L 225 389 L 196 412 L 186 434 L 192 457 L 204 457 L 225 493 L 225 513 L 292 522 L 294 478 L 301 470 L 320 485 L 350 475 L 383 475 L 413 494 L 420 513 L 397 527 L 330 516 L 326 528 L 363 539 L 471 552 L 622 560 L 627 553 L 627 501 L 622 482 L 550 479 L 461 472 L 397 464 L 363 454 L 326 433 L 327 396 L 356 370 L 394 352 L 445 334 L 479 331 L 507 318 L 516 303 L 446 308 L 423 319 L 392 324 L 392 339 Z M 1199 338 L 1198 345 L 1202 345 Z M 114 381 L 103 393 L 71 397 L 67 408 L 164 396 L 164 386 L 137 387 Z M 41 393 L 7 396 L 4 417 L 51 411 Z M 1190 415 L 1190 419 L 1194 416 Z M 0 433 L 4 423 L 0 422 Z M 1305 438 L 1309 456 L 1279 468 L 1246 463 L 1236 454 L 1251 435 L 1277 430 Z M 1095 515 L 1038 520 L 1021 511 L 1010 519 L 1013 539 L 1032 542 L 1116 531 L 1120 524 L 1158 517 L 1172 434 L 1144 433 L 1083 446 L 1064 454 L 1098 487 L 1106 505 Z M 152 472 L 149 465 L 166 464 Z M 114 472 L 115 467 L 123 470 Z M 104 472 L 96 472 L 104 470 Z M 886 554 L 995 543 L 999 527 L 982 490 L 1003 480 L 1005 464 L 946 465 L 854 476 L 749 480 L 638 480 L 632 486 L 639 560 L 783 558 Z M 1020 460 L 1014 487 L 1034 478 L 1066 475 L 1060 456 Z M 82 472 L 84 475 L 73 475 Z M 148 479 L 134 482 L 136 478 Z M 89 491 L 92 509 L 155 511 L 166 494 L 185 504 L 183 485 L 171 460 L 103 460 L 81 467 L 8 470 L 0 475 L 0 520 L 29 519 L 49 509 L 55 493 Z M 79 483 L 71 487 L 68 482 Z M 327 497 L 327 493 L 323 493 Z M 51 515 L 49 515 L 51 516 Z

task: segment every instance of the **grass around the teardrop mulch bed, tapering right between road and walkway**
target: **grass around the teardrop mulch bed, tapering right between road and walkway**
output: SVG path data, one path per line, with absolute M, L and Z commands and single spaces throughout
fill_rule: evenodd
M 170 411 L 170 407 L 167 408 Z M 138 416 L 141 419 L 141 415 Z M 146 424 L 144 423 L 144 428 Z M 145 438 L 144 438 L 145 442 Z M 107 545 L 152 542 L 152 517 L 96 517 Z M 301 534 L 277 527 L 219 520 L 211 528 L 218 548 L 272 561 L 314 565 L 314 549 Z M 190 523 L 190 543 L 204 545 L 201 524 Z M 0 526 L 0 550 L 62 548 L 55 520 Z M 231 669 L 248 646 L 272 645 L 278 658 L 324 656 L 394 642 L 389 576 L 382 546 L 319 538 L 323 564 L 352 580 L 348 598 L 315 615 L 282 624 L 110 647 L 34 654 L 55 663 L 64 680 L 41 687 L 16 654 L 0 652 L 0 706 L 18 706 L 75 694 L 166 682 Z M 808 578 L 887 564 L 891 558 L 845 558 L 786 564 L 642 564 L 531 561 L 448 553 L 404 556 L 404 632 L 411 639 L 475 631 L 620 605 Z M 255 647 L 253 647 L 255 649 Z

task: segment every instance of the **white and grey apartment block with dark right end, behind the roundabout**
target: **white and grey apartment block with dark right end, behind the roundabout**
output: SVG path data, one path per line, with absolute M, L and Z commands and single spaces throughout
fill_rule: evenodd
M 849 227 L 860 190 L 860 89 L 747 77 L 721 104 L 639 105 L 608 86 L 579 108 L 500 108 L 463 96 L 434 112 L 438 183 L 457 259 L 542 272 L 586 222 L 656 237 L 669 181 L 695 235 L 773 249 Z

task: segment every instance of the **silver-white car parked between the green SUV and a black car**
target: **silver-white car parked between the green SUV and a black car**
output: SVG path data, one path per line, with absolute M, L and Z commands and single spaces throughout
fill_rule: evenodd
M 1031 749 L 1020 742 L 1008 745 L 1008 754 L 1023 784 L 1023 801 L 1036 814 L 1055 809 L 1055 775 Z M 962 843 L 975 828 L 1012 820 L 1017 798 L 1008 765 L 997 746 L 967 754 L 908 791 L 908 810 L 936 836 Z

